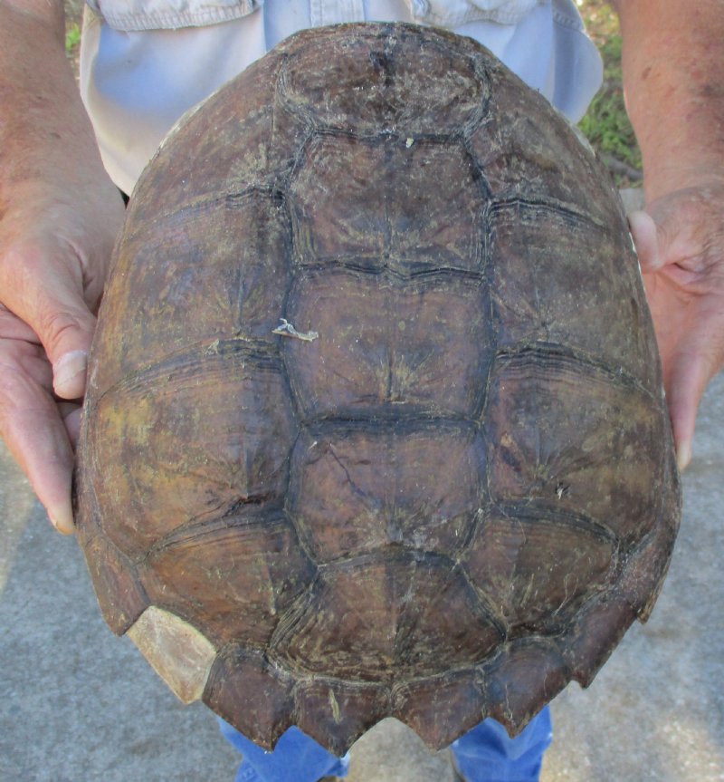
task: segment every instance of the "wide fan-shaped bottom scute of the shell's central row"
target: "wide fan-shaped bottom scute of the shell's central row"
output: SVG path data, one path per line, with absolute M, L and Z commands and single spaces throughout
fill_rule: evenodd
M 430 559 L 367 556 L 324 568 L 310 601 L 280 625 L 275 653 L 303 671 L 389 686 L 412 671 L 484 660 L 500 627 L 460 568 Z

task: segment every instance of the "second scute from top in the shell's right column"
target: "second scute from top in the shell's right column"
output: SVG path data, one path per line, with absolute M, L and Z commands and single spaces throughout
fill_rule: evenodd
M 491 210 L 491 233 L 491 295 L 500 349 L 566 345 L 658 392 L 658 368 L 647 358 L 655 352 L 653 331 L 639 323 L 648 317 L 643 286 L 630 256 L 606 231 L 565 208 L 514 201 Z M 612 295 L 612 288 L 622 294 Z

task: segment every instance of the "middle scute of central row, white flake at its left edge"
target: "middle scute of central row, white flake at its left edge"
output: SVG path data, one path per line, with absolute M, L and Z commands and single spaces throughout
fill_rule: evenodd
M 304 417 L 474 418 L 493 355 L 485 298 L 479 279 L 456 276 L 298 275 L 289 318 L 319 339 L 285 341 L 282 352 Z

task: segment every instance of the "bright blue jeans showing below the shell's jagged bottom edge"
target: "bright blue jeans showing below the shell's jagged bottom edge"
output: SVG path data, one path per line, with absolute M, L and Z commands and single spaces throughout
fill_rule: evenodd
M 320 777 L 346 777 L 349 758 L 337 758 L 299 728 L 290 728 L 272 752 L 257 747 L 219 719 L 222 733 L 243 755 L 236 782 L 317 782 Z M 451 748 L 468 782 L 537 782 L 543 753 L 551 739 L 548 707 L 525 730 L 510 739 L 494 719 L 486 719 Z

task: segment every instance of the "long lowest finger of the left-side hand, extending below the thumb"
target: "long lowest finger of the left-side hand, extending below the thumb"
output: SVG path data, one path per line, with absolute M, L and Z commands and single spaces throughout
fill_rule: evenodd
M 53 526 L 70 534 L 73 453 L 65 426 L 51 395 L 23 372 L 7 367 L 0 384 L 0 434 Z

